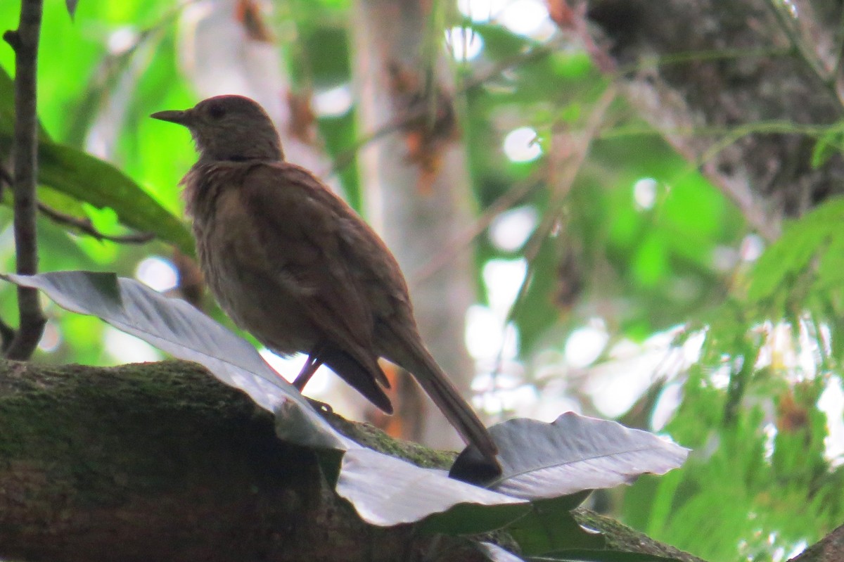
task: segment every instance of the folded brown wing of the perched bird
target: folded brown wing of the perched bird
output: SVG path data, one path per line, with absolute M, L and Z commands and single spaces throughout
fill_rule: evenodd
M 281 162 L 252 167 L 241 197 L 275 278 L 297 295 L 330 343 L 383 378 L 372 344 L 373 312 L 354 272 L 361 260 L 343 235 L 360 219 L 310 172 Z

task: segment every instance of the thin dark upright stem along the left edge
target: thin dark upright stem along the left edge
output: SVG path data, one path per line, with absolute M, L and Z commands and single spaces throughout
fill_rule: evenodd
M 3 35 L 3 39 L 14 49 L 14 246 L 16 270 L 23 275 L 32 275 L 38 271 L 35 226 L 38 116 L 35 109 L 35 77 L 42 11 L 43 0 L 23 0 L 18 29 Z M 26 360 L 32 356 L 41 340 L 46 323 L 36 289 L 18 288 L 18 311 L 19 329 L 6 351 L 6 357 Z

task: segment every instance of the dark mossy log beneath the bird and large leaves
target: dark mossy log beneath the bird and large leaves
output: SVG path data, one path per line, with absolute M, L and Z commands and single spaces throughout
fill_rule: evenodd
M 367 525 L 327 483 L 336 462 L 278 440 L 269 413 L 192 363 L 0 361 L 3 559 L 412 561 L 435 548 L 438 560 L 482 559 L 461 538 Z M 609 548 L 697 560 L 575 515 Z

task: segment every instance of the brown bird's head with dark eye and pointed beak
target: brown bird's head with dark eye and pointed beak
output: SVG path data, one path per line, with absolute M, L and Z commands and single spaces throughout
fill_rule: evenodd
M 279 132 L 256 101 L 218 95 L 184 111 L 159 111 L 150 117 L 187 127 L 200 160 L 284 159 Z

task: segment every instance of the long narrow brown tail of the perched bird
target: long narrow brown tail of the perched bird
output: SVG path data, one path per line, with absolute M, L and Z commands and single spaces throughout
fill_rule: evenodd
M 485 458 L 493 462 L 496 467 L 499 466 L 495 459 L 498 446 L 495 445 L 490 432 L 478 418 L 478 414 L 460 396 L 460 392 L 457 392 L 457 388 L 448 379 L 440 365 L 437 365 L 430 352 L 421 343 L 412 347 L 412 350 L 408 350 L 409 357 L 394 359 L 387 357 L 387 359 L 410 371 L 419 386 L 422 386 L 422 390 L 430 396 L 436 407 L 440 408 L 463 441 L 478 447 Z

